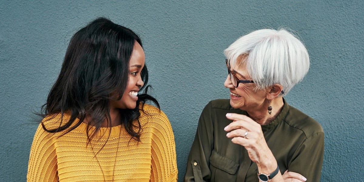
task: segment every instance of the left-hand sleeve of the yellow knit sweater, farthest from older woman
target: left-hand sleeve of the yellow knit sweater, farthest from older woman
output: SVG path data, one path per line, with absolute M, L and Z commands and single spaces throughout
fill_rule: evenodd
M 28 182 L 57 182 L 57 156 L 54 134 L 46 132 L 41 124 L 35 133 L 28 163 Z

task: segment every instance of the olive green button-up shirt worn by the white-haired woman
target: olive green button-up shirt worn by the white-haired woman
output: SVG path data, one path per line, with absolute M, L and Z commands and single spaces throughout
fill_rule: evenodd
M 283 101 L 277 118 L 262 126 L 269 149 L 282 174 L 288 169 L 306 177 L 307 182 L 320 181 L 323 129 L 317 121 Z M 184 181 L 258 182 L 257 164 L 250 160 L 244 146 L 226 137 L 224 128 L 232 122 L 225 117 L 226 113 L 247 115 L 243 110 L 232 108 L 225 99 L 213 100 L 203 109 Z

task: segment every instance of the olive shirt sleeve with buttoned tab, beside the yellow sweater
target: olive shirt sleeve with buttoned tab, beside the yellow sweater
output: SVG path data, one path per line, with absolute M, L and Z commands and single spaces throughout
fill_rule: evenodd
M 213 150 L 213 124 L 211 102 L 203 109 L 198 121 L 197 132 L 187 159 L 185 182 L 210 181 L 210 156 Z

